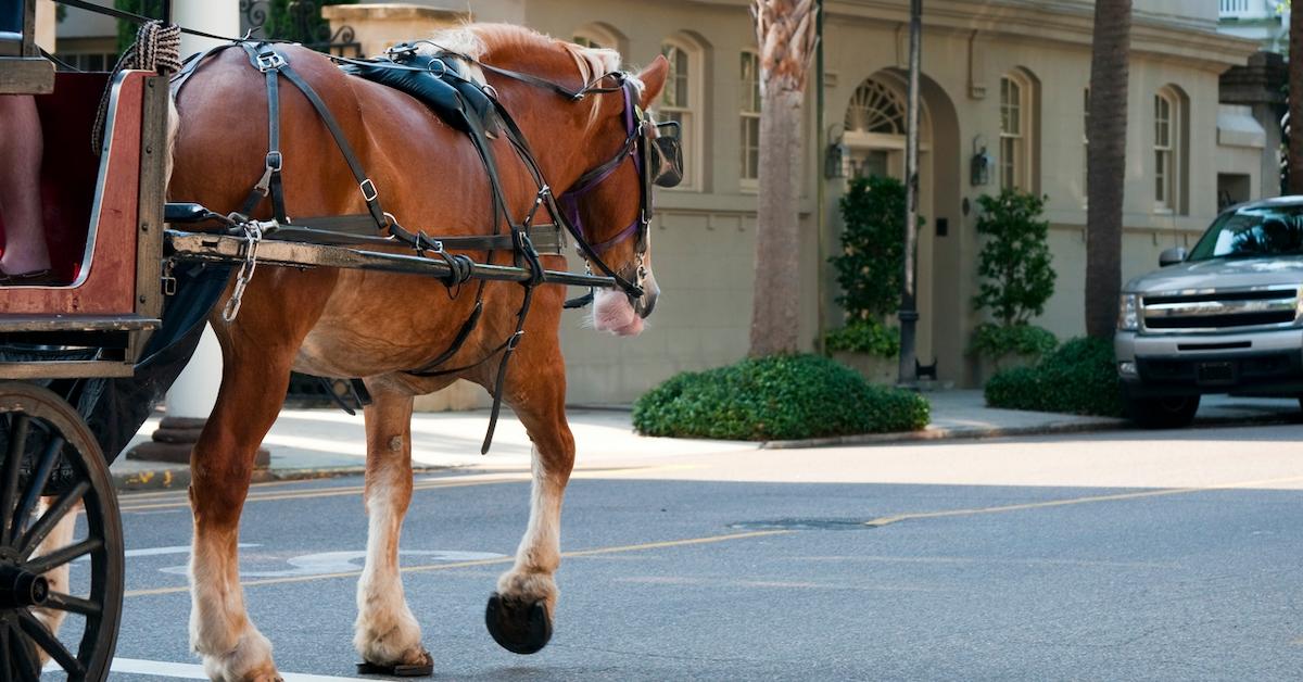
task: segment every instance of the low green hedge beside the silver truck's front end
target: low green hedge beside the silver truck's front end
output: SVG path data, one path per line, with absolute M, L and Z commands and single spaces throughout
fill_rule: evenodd
M 986 404 L 1010 409 L 1122 416 L 1113 343 L 1066 342 L 1036 366 L 1012 368 L 986 382 Z

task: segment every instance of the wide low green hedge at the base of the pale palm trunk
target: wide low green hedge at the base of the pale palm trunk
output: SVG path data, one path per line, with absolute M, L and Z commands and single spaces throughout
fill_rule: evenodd
M 787 441 L 917 430 L 930 406 L 921 395 L 874 386 L 816 355 L 775 355 L 684 372 L 633 404 L 645 436 Z

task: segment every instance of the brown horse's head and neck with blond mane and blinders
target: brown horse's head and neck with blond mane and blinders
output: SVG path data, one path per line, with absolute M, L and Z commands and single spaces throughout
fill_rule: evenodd
M 668 63 L 658 56 L 635 74 L 620 70 L 612 50 L 506 25 L 473 25 L 435 42 L 478 60 L 477 76 L 491 81 L 529 132 L 589 269 L 619 284 L 595 293 L 593 326 L 622 336 L 641 333 L 661 292 L 652 274 L 652 186 L 674 186 L 681 175 L 676 134 L 648 113 Z

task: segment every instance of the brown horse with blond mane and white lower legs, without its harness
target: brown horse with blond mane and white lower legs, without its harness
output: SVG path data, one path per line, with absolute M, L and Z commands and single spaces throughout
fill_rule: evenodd
M 478 61 L 579 90 L 619 69 L 619 55 L 586 50 L 515 26 L 472 25 L 434 42 Z M 408 95 L 345 76 L 322 55 L 285 47 L 293 69 L 337 117 L 379 189 L 384 209 L 404 226 L 431 235 L 486 235 L 493 230 L 489 183 L 468 138 Z M 614 158 L 627 140 L 624 100 L 616 93 L 593 93 L 572 100 L 537 82 L 503 77 L 470 63 L 468 74 L 483 78 L 515 117 L 533 146 L 546 180 L 563 194 L 586 171 Z M 638 102 L 648 107 L 665 85 L 667 64 L 658 57 L 638 74 Z M 267 149 L 265 78 L 241 50 L 227 50 L 206 63 L 177 95 L 180 132 L 169 196 L 218 211 L 237 210 L 262 172 Z M 284 83 L 284 80 L 281 80 Z M 357 214 L 357 183 L 340 159 L 326 125 L 302 94 L 280 87 L 284 196 L 289 216 Z M 520 220 L 537 193 L 507 142 L 494 141 L 511 213 Z M 592 244 L 611 241 L 640 209 L 641 177 L 625 159 L 580 202 Z M 266 202 L 263 213 L 267 215 Z M 623 276 L 638 278 L 645 293 L 597 296 L 598 330 L 628 335 L 641 331 L 658 289 L 650 261 L 636 258 L 635 240 L 615 239 L 602 257 Z M 477 259 L 485 253 L 470 253 Z M 509 265 L 511 254 L 496 252 Z M 545 256 L 549 269 L 564 258 Z M 469 284 L 468 288 L 473 287 Z M 490 283 L 485 314 L 447 366 L 469 365 L 494 352 L 516 326 L 524 288 Z M 229 296 L 228 288 L 227 295 Z M 575 445 L 566 421 L 566 370 L 558 344 L 563 287 L 537 289 L 525 334 L 506 376 L 504 402 L 534 442 L 529 526 L 511 570 L 490 601 L 489 626 L 512 651 L 537 651 L 546 643 L 556 609 L 552 574 L 560 562 L 562 496 Z M 408 609 L 399 576 L 403 516 L 412 497 L 410 417 L 416 395 L 437 391 L 456 378 L 490 387 L 496 361 L 455 376 L 420 378 L 420 368 L 452 343 L 472 312 L 473 295 L 450 299 L 437 280 L 413 275 L 332 269 L 258 270 L 238 317 L 212 325 L 222 343 L 222 390 L 190 462 L 194 546 L 190 566 L 190 642 L 214 679 L 278 679 L 271 644 L 253 626 L 240 587 L 236 542 L 254 454 L 280 411 L 289 372 L 362 377 L 374 403 L 366 408 L 366 492 L 369 519 L 366 567 L 358 582 L 354 645 L 379 666 L 431 661 L 421 629 Z

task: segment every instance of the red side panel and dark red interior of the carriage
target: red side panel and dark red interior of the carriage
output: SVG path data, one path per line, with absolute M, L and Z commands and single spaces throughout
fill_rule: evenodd
M 46 243 L 55 271 L 69 284 L 0 288 L 0 314 L 134 313 L 146 76 L 117 77 L 100 155 L 91 151 L 90 140 L 108 74 L 60 73 L 55 91 L 36 96 L 44 133 Z

